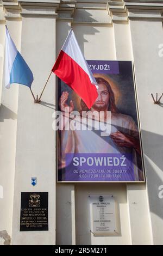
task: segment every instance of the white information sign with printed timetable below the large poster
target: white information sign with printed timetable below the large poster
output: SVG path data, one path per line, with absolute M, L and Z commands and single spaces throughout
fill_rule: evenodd
M 116 234 L 115 200 L 110 195 L 89 196 L 91 231 L 95 235 Z

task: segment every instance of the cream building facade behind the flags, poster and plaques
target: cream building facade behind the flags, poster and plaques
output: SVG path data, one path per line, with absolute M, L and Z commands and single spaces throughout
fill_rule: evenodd
M 162 245 L 163 1 L 6 0 L 0 3 L 0 237 L 12 245 Z M 146 182 L 57 182 L 55 75 L 40 104 L 5 81 L 5 25 L 33 71 L 40 94 L 73 28 L 86 59 L 131 60 Z M 31 178 L 37 178 L 36 186 Z M 48 230 L 20 231 L 21 192 L 48 192 Z M 113 194 L 117 235 L 90 231 L 90 194 Z

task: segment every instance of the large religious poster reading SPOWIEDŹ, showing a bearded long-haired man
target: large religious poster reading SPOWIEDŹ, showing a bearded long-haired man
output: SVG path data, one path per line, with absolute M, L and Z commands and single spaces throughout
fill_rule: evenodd
M 132 62 L 87 63 L 98 86 L 90 109 L 58 78 L 58 182 L 144 182 Z

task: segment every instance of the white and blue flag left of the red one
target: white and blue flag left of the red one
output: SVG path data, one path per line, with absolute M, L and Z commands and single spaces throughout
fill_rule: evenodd
M 29 66 L 17 51 L 7 26 L 5 27 L 5 87 L 11 83 L 19 83 L 31 87 L 33 74 Z

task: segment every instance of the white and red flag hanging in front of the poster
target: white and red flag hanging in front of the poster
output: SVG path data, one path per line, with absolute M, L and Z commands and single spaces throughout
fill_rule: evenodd
M 80 50 L 72 29 L 52 72 L 76 92 L 90 109 L 97 99 L 97 82 Z

